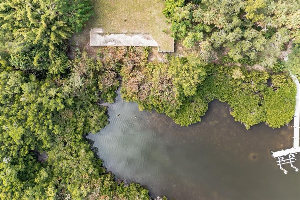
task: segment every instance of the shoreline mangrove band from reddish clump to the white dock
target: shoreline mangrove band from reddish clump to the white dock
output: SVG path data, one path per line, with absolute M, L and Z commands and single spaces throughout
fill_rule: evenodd
M 226 56 L 223 59 L 233 62 Z M 253 64 L 248 59 L 240 62 Z M 283 126 L 294 113 L 295 84 L 286 75 L 272 76 L 270 87 L 265 71 L 208 65 L 191 57 L 170 57 L 169 63 L 164 64 L 135 63 L 134 68 L 124 65 L 121 75 L 122 98 L 137 102 L 141 110 L 163 112 L 182 126 L 201 121 L 213 99 L 228 102 L 232 116 L 247 129 L 260 122 L 273 128 Z M 277 106 L 272 105 L 274 101 Z M 272 118 L 276 121 L 271 122 Z

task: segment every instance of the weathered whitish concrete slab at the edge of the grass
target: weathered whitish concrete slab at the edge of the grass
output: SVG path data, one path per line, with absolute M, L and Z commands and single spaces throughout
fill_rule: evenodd
M 149 34 L 90 32 L 90 46 L 149 46 L 158 47 L 157 42 Z

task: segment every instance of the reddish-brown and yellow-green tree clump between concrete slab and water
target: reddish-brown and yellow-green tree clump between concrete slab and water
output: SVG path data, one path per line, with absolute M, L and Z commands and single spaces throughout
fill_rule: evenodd
M 139 103 L 141 110 L 155 109 L 174 117 L 184 99 L 195 95 L 197 86 L 205 79 L 207 64 L 192 56 L 171 57 L 169 63 L 147 63 L 148 49 L 142 49 L 145 53 L 134 49 L 137 55 L 131 61 L 133 64 L 121 69 L 122 98 Z

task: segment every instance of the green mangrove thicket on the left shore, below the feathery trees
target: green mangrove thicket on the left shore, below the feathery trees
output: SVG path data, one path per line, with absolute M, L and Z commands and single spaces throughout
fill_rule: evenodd
M 102 65 L 85 52 L 68 65 L 64 78 L 1 72 L 0 198 L 149 199 L 138 184 L 123 187 L 105 173 L 83 137 L 107 125 L 97 104 Z M 38 162 L 33 150 L 49 159 Z

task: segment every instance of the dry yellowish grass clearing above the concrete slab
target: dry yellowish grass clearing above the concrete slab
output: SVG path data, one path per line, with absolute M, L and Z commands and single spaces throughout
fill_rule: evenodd
M 173 50 L 171 32 L 164 28 L 170 26 L 162 13 L 164 0 L 94 0 L 93 9 L 95 15 L 87 26 L 71 39 L 77 45 L 89 43 L 90 29 L 103 28 L 104 32 L 149 32 L 161 50 Z

